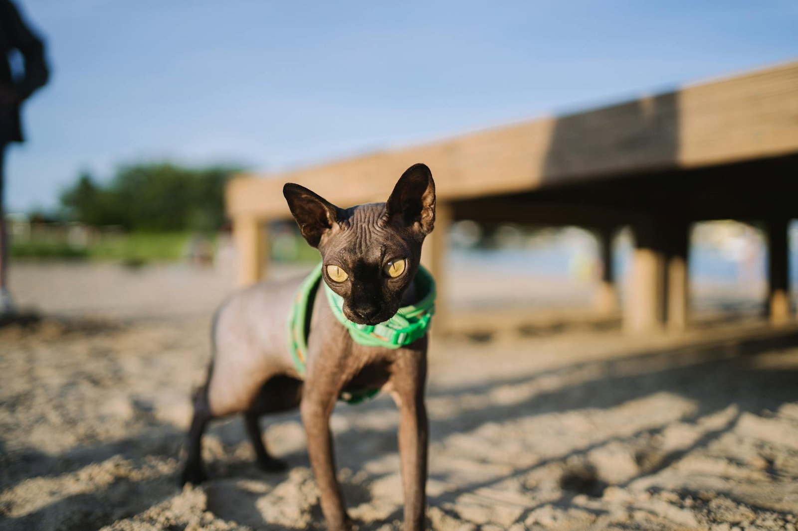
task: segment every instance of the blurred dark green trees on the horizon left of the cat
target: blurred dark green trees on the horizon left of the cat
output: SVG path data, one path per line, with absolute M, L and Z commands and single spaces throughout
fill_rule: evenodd
M 190 168 L 172 163 L 120 167 L 105 186 L 86 172 L 61 194 L 66 217 L 131 231 L 218 230 L 224 184 L 234 167 Z

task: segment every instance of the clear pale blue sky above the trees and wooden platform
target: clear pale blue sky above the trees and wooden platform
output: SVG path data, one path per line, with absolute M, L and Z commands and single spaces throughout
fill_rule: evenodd
M 264 171 L 568 112 L 798 57 L 798 2 L 18 0 L 48 43 L 9 210 L 78 171 Z

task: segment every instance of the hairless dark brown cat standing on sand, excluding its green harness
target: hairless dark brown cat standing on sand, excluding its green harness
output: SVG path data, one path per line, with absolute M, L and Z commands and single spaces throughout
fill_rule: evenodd
M 423 296 L 414 278 L 421 242 L 434 222 L 435 188 L 429 168 L 417 164 L 406 171 L 388 203 L 343 210 L 297 185 L 286 185 L 286 199 L 303 236 L 321 252 L 322 282 L 343 298 L 342 311 L 348 319 L 375 325 L 392 317 L 400 305 Z M 234 413 L 244 415 L 259 466 L 282 470 L 285 465 L 263 445 L 258 419 L 300 407 L 327 524 L 330 529 L 349 529 L 335 477 L 330 414 L 346 388 L 380 388 L 390 392 L 400 409 L 405 529 L 423 529 L 427 336 L 400 348 L 359 344 L 333 315 L 324 286 L 319 286 L 301 376 L 286 342 L 288 309 L 300 282 L 261 282 L 235 294 L 217 313 L 214 357 L 207 382 L 194 398 L 181 482 L 205 479 L 204 428 L 210 419 Z

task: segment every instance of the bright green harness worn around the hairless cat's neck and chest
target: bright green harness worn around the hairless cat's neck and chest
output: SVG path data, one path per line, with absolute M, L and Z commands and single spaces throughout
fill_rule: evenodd
M 311 301 L 319 284 L 324 286 L 327 302 L 334 316 L 350 332 L 352 339 L 369 347 L 400 348 L 420 340 L 427 333 L 429 321 L 435 313 L 435 280 L 424 266 L 416 273 L 416 285 L 425 297 L 415 305 L 404 306 L 388 321 L 379 325 L 358 325 L 343 313 L 343 297 L 322 282 L 322 265 L 319 264 L 302 281 L 291 304 L 286 325 L 288 350 L 294 359 L 299 376 L 305 376 L 307 336 L 310 333 Z M 340 399 L 348 403 L 361 403 L 377 395 L 379 389 L 345 389 Z

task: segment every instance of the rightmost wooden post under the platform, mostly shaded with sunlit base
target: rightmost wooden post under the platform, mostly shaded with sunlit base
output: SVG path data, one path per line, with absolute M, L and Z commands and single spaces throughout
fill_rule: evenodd
M 772 325 L 790 321 L 788 227 L 788 218 L 773 218 L 767 222 L 768 315 Z

